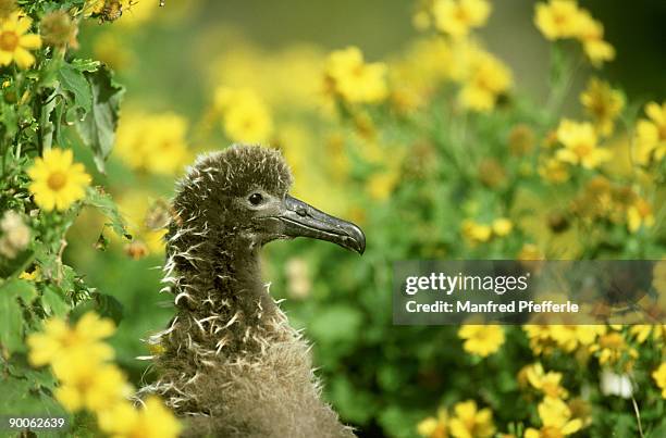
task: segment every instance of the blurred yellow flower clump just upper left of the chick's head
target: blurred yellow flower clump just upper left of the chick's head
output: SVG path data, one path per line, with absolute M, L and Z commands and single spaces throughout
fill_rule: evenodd
M 187 121 L 177 114 L 128 113 L 119 126 L 114 151 L 132 168 L 173 175 L 189 161 L 186 133 Z

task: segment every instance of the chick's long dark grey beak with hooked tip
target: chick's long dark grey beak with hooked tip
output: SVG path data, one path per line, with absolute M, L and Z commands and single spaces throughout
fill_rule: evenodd
M 276 218 L 282 222 L 285 236 L 328 240 L 359 254 L 366 250 L 366 235 L 358 226 L 288 195 L 284 199 L 283 212 Z

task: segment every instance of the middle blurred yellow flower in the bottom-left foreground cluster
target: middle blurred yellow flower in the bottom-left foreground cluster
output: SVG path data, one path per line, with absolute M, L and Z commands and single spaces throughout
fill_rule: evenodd
M 67 358 L 53 366 L 53 374 L 60 379 L 55 399 L 67 411 L 104 411 L 131 395 L 132 387 L 115 365 L 90 361 L 82 350 Z

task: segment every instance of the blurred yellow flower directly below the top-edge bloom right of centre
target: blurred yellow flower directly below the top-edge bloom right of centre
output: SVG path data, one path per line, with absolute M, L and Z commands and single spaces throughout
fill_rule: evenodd
M 497 97 L 511 86 L 511 72 L 497 58 L 485 51 L 472 55 L 462 79 L 459 100 L 462 107 L 486 112 L 495 108 Z

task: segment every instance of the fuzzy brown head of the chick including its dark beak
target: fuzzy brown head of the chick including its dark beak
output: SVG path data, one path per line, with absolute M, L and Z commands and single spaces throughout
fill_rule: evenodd
M 279 151 L 232 146 L 197 161 L 181 182 L 174 207 L 181 215 L 192 215 L 182 217 L 184 222 L 206 223 L 223 238 L 237 237 L 251 246 L 309 237 L 365 251 L 366 236 L 358 226 L 292 197 L 292 183 Z

